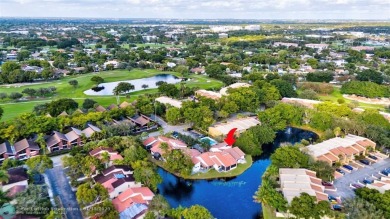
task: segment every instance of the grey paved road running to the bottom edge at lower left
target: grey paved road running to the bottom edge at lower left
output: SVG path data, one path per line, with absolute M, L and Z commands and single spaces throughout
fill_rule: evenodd
M 60 158 L 54 157 L 54 168 L 46 171 L 54 196 L 59 196 L 66 211 L 67 219 L 81 219 L 80 206 L 77 203 L 76 195 L 72 191 L 69 180 L 66 178 Z

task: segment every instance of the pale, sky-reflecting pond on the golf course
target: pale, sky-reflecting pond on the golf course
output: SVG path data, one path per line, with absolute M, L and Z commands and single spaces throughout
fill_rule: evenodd
M 170 74 L 159 74 L 159 75 L 155 75 L 155 76 L 149 77 L 149 78 L 140 78 L 140 79 L 134 79 L 134 80 L 128 80 L 128 81 L 116 81 L 116 82 L 102 83 L 102 84 L 99 84 L 99 87 L 103 86 L 104 87 L 103 90 L 96 92 L 96 91 L 93 91 L 92 89 L 89 89 L 89 90 L 84 91 L 84 94 L 86 94 L 86 95 L 114 95 L 113 90 L 120 82 L 128 82 L 128 83 L 131 83 L 132 85 L 134 85 L 134 90 L 132 90 L 131 92 L 140 91 L 140 90 L 144 90 L 144 88 L 142 88 L 142 85 L 144 85 L 144 84 L 148 85 L 148 87 L 146 89 L 157 88 L 156 82 L 158 82 L 158 81 L 164 81 L 164 82 L 167 82 L 169 84 L 176 84 L 176 83 L 180 82 L 181 79 L 174 76 L 174 75 L 170 75 Z

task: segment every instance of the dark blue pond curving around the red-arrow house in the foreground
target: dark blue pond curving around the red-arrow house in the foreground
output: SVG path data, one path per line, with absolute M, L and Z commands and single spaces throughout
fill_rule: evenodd
M 218 219 L 258 219 L 261 205 L 253 202 L 253 195 L 261 184 L 261 176 L 270 165 L 270 155 L 281 144 L 302 139 L 317 139 L 310 131 L 287 128 L 279 132 L 273 144 L 263 147 L 263 155 L 243 174 L 225 180 L 183 180 L 159 168 L 163 183 L 158 186 L 171 207 L 205 206 Z

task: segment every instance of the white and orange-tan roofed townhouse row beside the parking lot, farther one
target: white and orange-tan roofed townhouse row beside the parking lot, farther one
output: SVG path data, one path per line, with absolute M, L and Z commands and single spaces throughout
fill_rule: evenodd
M 348 134 L 345 137 L 335 137 L 318 144 L 304 148 L 315 160 L 321 160 L 335 165 L 349 163 L 355 156 L 365 155 L 369 148 L 375 149 L 376 143 L 368 138 Z

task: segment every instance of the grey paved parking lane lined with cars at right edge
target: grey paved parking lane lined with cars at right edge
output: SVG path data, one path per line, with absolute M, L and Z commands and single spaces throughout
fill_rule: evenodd
M 334 186 L 337 188 L 337 194 L 343 199 L 353 198 L 355 196 L 355 192 L 351 187 L 349 187 L 350 184 L 357 183 L 358 180 L 362 182 L 365 177 L 369 178 L 372 176 L 372 174 L 378 176 L 378 172 L 386 168 L 390 168 L 390 158 L 381 160 L 362 169 L 356 171 L 354 170 L 352 173 L 346 173 L 345 176 L 335 180 L 334 182 Z

